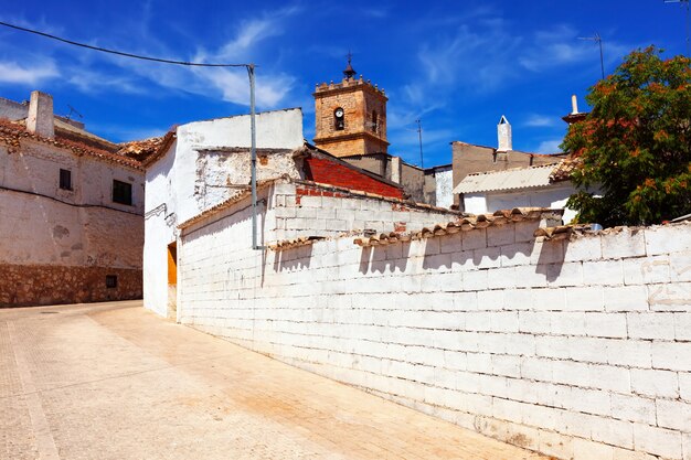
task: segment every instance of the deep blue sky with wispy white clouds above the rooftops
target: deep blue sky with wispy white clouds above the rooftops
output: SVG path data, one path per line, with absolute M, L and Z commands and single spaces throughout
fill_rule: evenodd
M 554 152 L 563 115 L 629 51 L 684 52 L 684 10 L 662 0 L 297 1 L 179 0 L 4 2 L 0 20 L 74 41 L 158 57 L 254 62 L 259 110 L 302 107 L 313 137 L 315 85 L 339 81 L 346 54 L 390 98 L 390 152 L 425 167 L 450 162 L 454 140 L 497 145 L 506 115 L 513 148 Z M 117 4 L 117 7 L 115 7 Z M 31 89 L 68 105 L 114 141 L 170 126 L 248 113 L 243 69 L 132 61 L 0 28 L 0 96 Z

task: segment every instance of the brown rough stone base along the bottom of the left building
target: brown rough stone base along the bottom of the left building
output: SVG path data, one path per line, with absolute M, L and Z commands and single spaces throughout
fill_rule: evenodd
M 0 308 L 130 299 L 141 299 L 141 269 L 0 264 Z

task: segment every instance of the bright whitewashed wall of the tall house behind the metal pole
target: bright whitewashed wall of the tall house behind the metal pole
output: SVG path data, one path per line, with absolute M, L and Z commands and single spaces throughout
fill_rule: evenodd
M 295 150 L 304 145 L 299 108 L 257 114 L 257 147 Z M 238 193 L 223 185 L 246 185 L 248 154 L 216 154 L 209 149 L 249 147 L 249 116 L 217 118 L 179 126 L 177 141 L 147 168 L 145 205 L 143 299 L 161 315 L 168 304 L 168 245 L 177 239 L 177 225 Z M 228 161 L 223 161 L 227 157 Z M 209 160 L 212 158 L 212 160 Z M 270 165 L 274 165 L 269 160 Z M 244 174 L 238 178 L 238 169 Z M 275 171 L 270 170 L 273 175 Z M 259 179 L 267 169 L 258 168 Z

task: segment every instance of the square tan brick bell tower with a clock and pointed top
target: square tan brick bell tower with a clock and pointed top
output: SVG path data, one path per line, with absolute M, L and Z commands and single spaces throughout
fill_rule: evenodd
M 315 146 L 337 157 L 386 153 L 386 100 L 384 90 L 348 66 L 340 83 L 317 85 Z

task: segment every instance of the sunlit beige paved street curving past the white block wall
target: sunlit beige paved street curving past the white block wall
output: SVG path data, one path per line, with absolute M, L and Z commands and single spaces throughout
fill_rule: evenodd
M 538 459 L 145 311 L 0 310 L 0 457 Z

